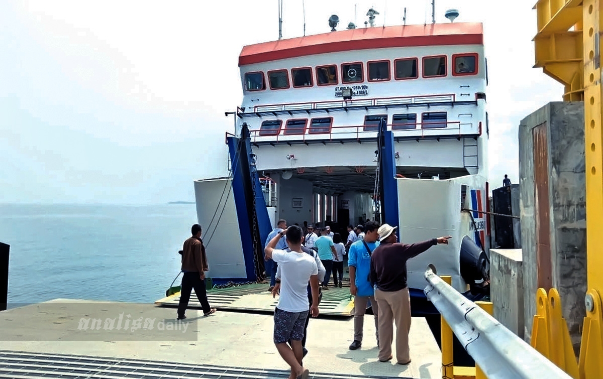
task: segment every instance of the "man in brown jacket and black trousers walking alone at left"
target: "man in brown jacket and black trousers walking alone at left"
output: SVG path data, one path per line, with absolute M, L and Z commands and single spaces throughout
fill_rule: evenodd
M 205 272 L 209 271 L 209 266 L 207 266 L 205 246 L 203 246 L 203 240 L 201 240 L 201 225 L 193 225 L 191 233 L 192 237 L 185 241 L 182 248 L 183 276 L 180 302 L 178 303 L 178 320 L 186 318 L 185 311 L 193 288 L 203 308 L 203 316 L 209 316 L 216 312 L 216 309 L 210 307 L 209 301 L 207 301 Z

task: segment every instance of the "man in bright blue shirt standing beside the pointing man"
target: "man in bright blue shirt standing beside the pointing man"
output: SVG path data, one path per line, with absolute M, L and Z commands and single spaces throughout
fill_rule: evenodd
M 375 330 L 377 346 L 379 346 L 379 322 L 377 313 L 379 308 L 374 298 L 373 286 L 370 282 L 371 254 L 379 246 L 379 223 L 367 222 L 364 225 L 364 239 L 358 240 L 350 246 L 347 265 L 350 268 L 350 293 L 354 295 L 354 340 L 350 350 L 356 350 L 362 346 L 362 328 L 364 327 L 364 314 L 367 310 L 367 302 L 370 300 L 375 319 Z

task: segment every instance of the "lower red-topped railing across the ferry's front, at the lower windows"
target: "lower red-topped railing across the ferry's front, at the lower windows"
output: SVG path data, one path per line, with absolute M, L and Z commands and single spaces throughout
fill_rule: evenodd
M 325 128 L 281 128 L 280 130 L 250 130 L 251 143 L 339 142 L 345 140 L 375 139 L 377 125 L 346 125 Z M 438 137 L 478 136 L 481 122 L 437 121 L 409 124 L 388 124 L 396 139 L 435 139 Z

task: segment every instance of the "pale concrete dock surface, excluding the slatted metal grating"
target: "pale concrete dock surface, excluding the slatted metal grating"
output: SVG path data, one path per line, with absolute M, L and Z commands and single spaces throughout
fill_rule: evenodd
M 153 304 L 55 299 L 0 312 L 0 350 L 288 370 L 273 343 L 270 315 L 216 312 L 205 317 L 189 309 L 187 316 L 176 321 L 175 309 Z M 353 318 L 311 319 L 303 362 L 311 377 L 441 377 L 440 349 L 425 319 L 412 319 L 408 366 L 396 365 L 395 343 L 393 362 L 378 362 L 372 315 L 365 316 L 361 349 L 348 349 L 352 337 Z

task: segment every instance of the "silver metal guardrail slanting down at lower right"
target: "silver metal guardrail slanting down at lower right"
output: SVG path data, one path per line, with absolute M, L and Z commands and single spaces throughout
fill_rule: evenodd
M 429 269 L 425 295 L 489 379 L 572 379 Z

